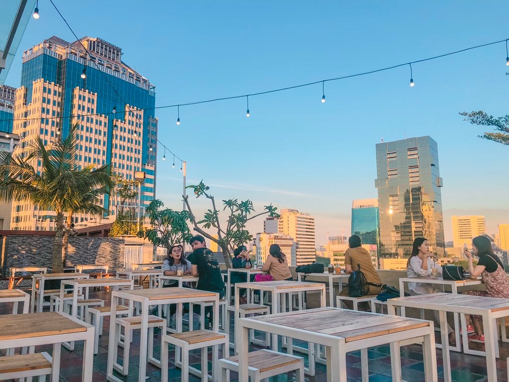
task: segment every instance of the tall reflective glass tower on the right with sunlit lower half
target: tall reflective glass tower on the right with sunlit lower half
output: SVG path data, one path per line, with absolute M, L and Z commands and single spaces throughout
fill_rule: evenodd
M 431 137 L 376 145 L 380 256 L 408 257 L 416 237 L 445 253 L 438 147 Z

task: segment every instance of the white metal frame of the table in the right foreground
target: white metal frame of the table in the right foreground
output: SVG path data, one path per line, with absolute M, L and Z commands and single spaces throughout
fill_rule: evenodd
M 497 318 L 509 317 L 509 309 L 492 311 L 491 309 L 486 308 L 478 308 L 472 306 L 462 306 L 462 305 L 454 305 L 454 299 L 451 299 L 451 302 L 448 304 L 444 303 L 431 303 L 431 302 L 423 302 L 418 301 L 419 297 L 431 297 L 432 295 L 443 295 L 445 293 L 433 293 L 433 294 L 421 294 L 417 296 L 410 297 L 400 297 L 400 298 L 389 298 L 387 300 L 387 311 L 388 314 L 395 315 L 396 307 L 401 307 L 403 310 L 404 307 L 409 308 L 417 308 L 417 309 L 431 309 L 437 310 L 440 315 L 440 334 L 442 337 L 442 357 L 443 357 L 443 367 L 444 367 L 444 379 L 446 382 L 450 382 L 451 380 L 451 368 L 450 368 L 450 354 L 449 354 L 449 339 L 447 336 L 447 312 L 455 312 L 461 314 L 461 321 L 463 328 L 466 328 L 466 320 L 465 314 L 479 315 L 483 317 L 483 330 L 485 334 L 485 351 L 478 350 L 470 350 L 472 354 L 476 355 L 486 355 L 486 369 L 488 374 L 488 381 L 494 382 L 497 380 L 497 368 L 495 359 L 499 357 L 498 350 L 498 337 L 497 337 Z M 448 296 L 453 296 L 450 293 L 446 293 Z M 465 295 L 462 295 L 465 296 Z M 502 300 L 498 302 L 502 307 L 505 305 L 509 307 L 509 299 L 506 298 L 494 298 L 494 297 L 480 297 L 480 296 L 468 296 L 473 297 L 472 302 L 475 298 L 481 299 L 481 301 L 486 302 L 487 298 L 492 298 L 495 300 Z M 496 302 L 495 302 L 496 303 Z M 494 304 L 495 304 L 494 303 Z M 468 348 L 468 338 L 467 334 L 463 334 L 463 345 L 465 348 Z M 437 346 L 438 347 L 438 346 Z

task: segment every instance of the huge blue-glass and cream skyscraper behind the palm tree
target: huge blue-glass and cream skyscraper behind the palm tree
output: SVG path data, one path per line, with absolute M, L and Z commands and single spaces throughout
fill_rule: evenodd
M 50 146 L 77 124 L 78 167 L 110 163 L 128 180 L 144 172 L 140 199 L 146 206 L 155 192 L 155 87 L 121 58 L 121 48 L 92 37 L 67 42 L 53 36 L 26 50 L 13 131 L 22 137 L 21 150 L 34 137 Z M 40 169 L 41 163 L 34 166 Z M 102 203 L 111 209 L 108 196 Z M 52 211 L 40 211 L 25 200 L 13 203 L 14 211 L 13 229 L 54 229 Z M 73 219 L 79 223 L 97 217 L 78 214 Z

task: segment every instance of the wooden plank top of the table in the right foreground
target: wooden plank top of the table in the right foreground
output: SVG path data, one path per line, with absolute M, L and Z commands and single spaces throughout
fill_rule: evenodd
M 422 304 L 424 309 L 426 309 L 426 305 L 446 305 L 486 309 L 492 312 L 509 310 L 509 298 L 470 296 L 468 294 L 430 293 L 394 298 L 391 299 L 391 302 L 392 300 L 394 301 L 394 305 L 398 305 L 398 302 L 405 301 L 419 303 Z

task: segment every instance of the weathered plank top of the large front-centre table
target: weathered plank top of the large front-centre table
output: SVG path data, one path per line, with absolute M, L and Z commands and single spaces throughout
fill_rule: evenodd
M 249 319 L 342 337 L 345 342 L 423 328 L 430 321 L 337 308 L 306 309 Z

